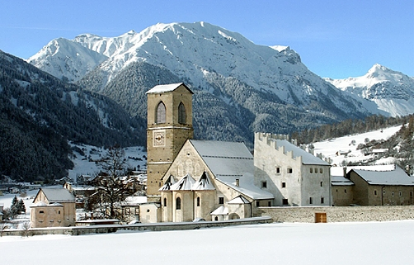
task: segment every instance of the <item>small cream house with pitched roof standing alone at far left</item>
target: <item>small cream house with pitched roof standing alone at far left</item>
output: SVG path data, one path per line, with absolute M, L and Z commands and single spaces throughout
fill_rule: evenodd
M 40 188 L 30 208 L 33 228 L 75 225 L 75 195 L 65 188 Z

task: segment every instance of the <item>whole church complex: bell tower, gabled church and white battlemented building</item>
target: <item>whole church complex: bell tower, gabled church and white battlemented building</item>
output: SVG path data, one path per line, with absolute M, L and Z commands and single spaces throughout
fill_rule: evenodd
M 256 216 L 258 207 L 330 205 L 330 165 L 270 134 L 244 143 L 193 140 L 184 84 L 147 93 L 147 200 L 140 220 L 211 221 Z

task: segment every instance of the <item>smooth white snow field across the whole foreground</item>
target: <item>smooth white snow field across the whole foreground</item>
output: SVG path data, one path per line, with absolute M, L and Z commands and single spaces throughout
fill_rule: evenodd
M 0 238 L 2 264 L 413 264 L 414 221 Z

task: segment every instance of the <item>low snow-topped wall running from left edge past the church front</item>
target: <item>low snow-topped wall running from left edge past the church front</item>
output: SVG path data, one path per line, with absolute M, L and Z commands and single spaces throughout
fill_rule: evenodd
M 240 226 L 248 224 L 268 224 L 273 219 L 268 216 L 245 219 L 234 219 L 228 221 L 200 221 L 182 223 L 153 223 L 153 224 L 130 224 L 130 225 L 100 225 L 100 226 L 73 226 L 56 228 L 30 228 L 28 231 L 6 229 L 0 231 L 1 236 L 33 236 L 33 235 L 86 235 L 90 233 L 114 233 L 116 231 L 177 231 L 192 230 L 209 227 Z

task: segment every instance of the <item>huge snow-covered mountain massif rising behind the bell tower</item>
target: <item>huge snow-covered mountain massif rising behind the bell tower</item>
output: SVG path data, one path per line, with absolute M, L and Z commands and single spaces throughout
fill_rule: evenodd
M 29 61 L 57 77 L 72 73 L 70 80 L 143 119 L 148 89 L 185 82 L 195 92 L 199 138 L 252 142 L 253 131 L 289 133 L 378 112 L 309 71 L 288 46 L 256 45 L 206 22 L 157 24 L 119 37 L 82 34 L 65 42 Z M 105 57 L 78 60 L 80 46 Z

